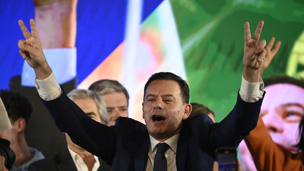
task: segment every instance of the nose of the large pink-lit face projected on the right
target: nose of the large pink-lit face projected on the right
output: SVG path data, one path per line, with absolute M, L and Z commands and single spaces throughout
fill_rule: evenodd
M 266 114 L 262 119 L 268 133 L 282 133 L 284 131 L 284 123 L 279 115 Z

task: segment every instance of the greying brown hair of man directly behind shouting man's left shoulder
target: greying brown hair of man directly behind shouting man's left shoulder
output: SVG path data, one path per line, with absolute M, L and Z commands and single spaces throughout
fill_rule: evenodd
M 99 94 L 99 96 L 110 94 L 114 92 L 123 92 L 126 95 L 127 102 L 129 104 L 129 93 L 126 90 L 126 88 L 121 85 L 116 80 L 110 80 L 110 79 L 102 79 L 94 82 L 90 87 L 89 90 L 95 91 Z

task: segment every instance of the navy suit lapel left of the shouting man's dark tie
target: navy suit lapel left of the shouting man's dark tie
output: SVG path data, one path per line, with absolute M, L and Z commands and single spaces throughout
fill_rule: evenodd
M 150 138 L 147 130 L 136 135 L 133 142 L 133 158 L 136 171 L 144 171 L 147 166 Z

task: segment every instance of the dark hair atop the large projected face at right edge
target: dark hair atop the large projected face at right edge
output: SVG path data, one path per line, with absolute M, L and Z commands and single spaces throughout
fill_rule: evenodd
M 298 80 L 293 77 L 288 77 L 288 76 L 278 76 L 278 77 L 270 77 L 267 79 L 263 79 L 264 81 L 264 87 L 268 85 L 273 85 L 273 84 L 293 84 L 297 85 L 301 88 L 304 89 L 304 80 Z

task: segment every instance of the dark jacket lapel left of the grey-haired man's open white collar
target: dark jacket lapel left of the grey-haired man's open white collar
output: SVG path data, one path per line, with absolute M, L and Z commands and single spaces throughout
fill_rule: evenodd
M 72 156 L 67 148 L 64 151 L 62 151 L 58 156 L 57 169 L 58 171 L 65 171 L 65 170 L 77 171 Z

